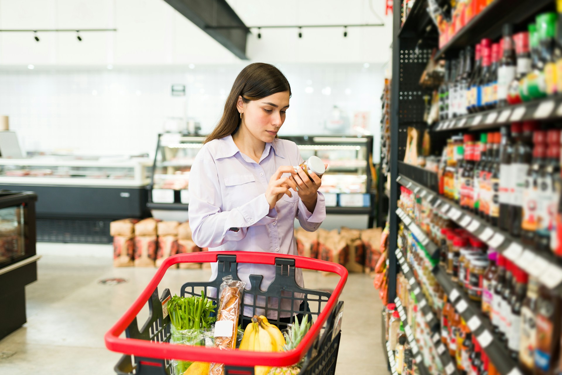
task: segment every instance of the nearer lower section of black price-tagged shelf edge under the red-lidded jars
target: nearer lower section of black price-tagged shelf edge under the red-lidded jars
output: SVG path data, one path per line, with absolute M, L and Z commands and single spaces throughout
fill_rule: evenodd
M 482 349 L 486 352 L 494 366 L 501 375 L 507 375 L 511 371 L 516 370 L 517 364 L 511 359 L 505 345 L 493 332 L 490 320 L 484 316 L 478 304 L 469 299 L 468 295 L 459 287 L 458 284 L 451 280 L 451 277 L 445 270 L 439 266 L 434 271 L 435 277 L 443 290 L 448 295 L 449 301 L 455 306 L 455 310 L 459 312 L 466 322 L 466 325 L 477 338 Z

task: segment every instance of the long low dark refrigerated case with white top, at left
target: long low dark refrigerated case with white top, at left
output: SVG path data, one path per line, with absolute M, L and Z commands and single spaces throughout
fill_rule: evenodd
M 110 243 L 112 220 L 149 215 L 151 171 L 146 157 L 0 158 L 0 189 L 40 197 L 38 241 Z

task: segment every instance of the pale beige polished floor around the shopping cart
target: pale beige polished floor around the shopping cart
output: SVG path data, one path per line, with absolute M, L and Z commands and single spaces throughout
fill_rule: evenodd
M 103 335 L 132 304 L 154 274 L 151 268 L 113 268 L 99 257 L 43 256 L 38 281 L 26 287 L 28 323 L 0 341 L 0 374 L 114 374 L 120 355 L 105 348 Z M 208 280 L 208 270 L 172 269 L 158 290 L 178 293 L 183 282 Z M 100 280 L 125 278 L 108 285 Z M 309 288 L 333 288 L 338 277 L 305 272 Z M 372 279 L 350 274 L 337 375 L 386 374 L 380 343 L 382 305 Z M 140 315 L 146 319 L 148 309 Z

